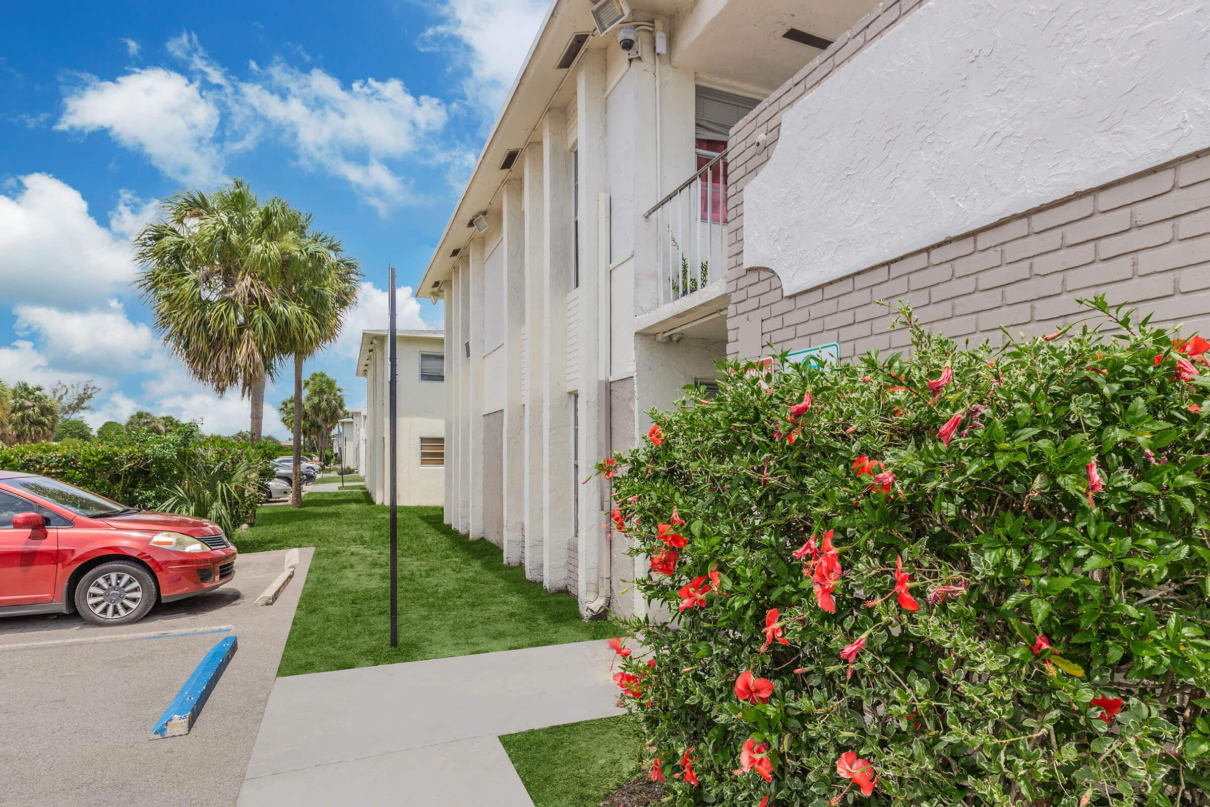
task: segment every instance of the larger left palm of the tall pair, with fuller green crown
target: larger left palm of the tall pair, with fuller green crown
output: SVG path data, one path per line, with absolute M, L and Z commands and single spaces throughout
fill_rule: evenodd
M 171 197 L 161 219 L 134 237 L 143 267 L 136 286 L 156 329 L 198 381 L 250 398 L 252 443 L 261 436 L 266 377 L 293 352 L 295 323 L 310 318 L 283 294 L 300 248 L 298 221 L 283 200 L 261 204 L 237 179 L 213 194 Z

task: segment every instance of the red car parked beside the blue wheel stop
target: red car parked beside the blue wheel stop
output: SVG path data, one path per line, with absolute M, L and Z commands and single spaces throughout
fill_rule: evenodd
M 156 603 L 231 582 L 235 557 L 204 519 L 0 471 L 0 616 L 79 611 L 93 624 L 128 624 Z

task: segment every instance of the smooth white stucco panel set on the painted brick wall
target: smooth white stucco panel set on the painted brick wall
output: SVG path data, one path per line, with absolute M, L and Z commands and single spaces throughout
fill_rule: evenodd
M 791 295 L 1208 148 L 1208 41 L 1188 0 L 933 0 L 783 115 L 744 264 Z

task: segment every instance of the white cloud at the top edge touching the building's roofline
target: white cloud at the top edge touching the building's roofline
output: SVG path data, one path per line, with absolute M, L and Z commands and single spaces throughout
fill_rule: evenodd
M 463 92 L 495 114 L 505 100 L 546 16 L 548 0 L 449 0 L 445 22 L 425 31 L 420 45 L 451 42 L 468 57 Z

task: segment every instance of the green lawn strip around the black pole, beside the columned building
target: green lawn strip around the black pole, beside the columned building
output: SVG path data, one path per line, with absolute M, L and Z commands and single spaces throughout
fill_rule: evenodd
M 399 649 L 390 647 L 387 508 L 364 491 L 307 494 L 263 507 L 240 552 L 315 547 L 278 675 L 537 647 L 616 635 L 576 601 L 505 566 L 499 548 L 442 523 L 440 507 L 399 508 Z

